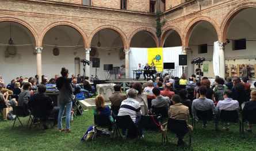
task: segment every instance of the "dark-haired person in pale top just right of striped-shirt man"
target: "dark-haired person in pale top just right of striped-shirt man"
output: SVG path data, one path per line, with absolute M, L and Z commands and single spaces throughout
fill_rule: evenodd
M 147 95 L 142 90 L 142 84 L 139 82 L 136 82 L 133 84 L 133 87 L 135 90 L 137 90 L 137 102 L 140 103 L 140 108 L 142 109 L 142 115 L 148 115 L 148 104 L 147 104 Z

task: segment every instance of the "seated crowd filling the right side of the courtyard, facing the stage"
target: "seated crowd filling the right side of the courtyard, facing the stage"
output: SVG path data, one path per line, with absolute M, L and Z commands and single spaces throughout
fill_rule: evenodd
M 256 104 L 253 102 L 256 91 L 250 92 L 248 79 L 241 81 L 235 77 L 230 81 L 231 78 L 224 80 L 216 77 L 215 82 L 211 83 L 207 77 L 203 77 L 200 82 L 197 82 L 195 77 L 192 75 L 187 81 L 185 75 L 182 75 L 180 80 L 166 75 L 165 78 L 157 77 L 155 82 L 150 78 L 144 84 L 131 82 L 130 89 L 126 91 L 127 95 L 121 91 L 121 86 L 116 84 L 114 94 L 109 97 L 112 114 L 108 109 L 108 115 L 112 118 L 129 115 L 138 125 L 141 115 L 156 114 L 165 117 L 167 113 L 167 118 L 188 122 L 190 114 L 195 120 L 199 119 L 198 111 L 211 111 L 216 115 L 220 114 L 221 110 L 255 110 Z M 97 99 L 102 101 L 104 98 L 97 96 Z M 100 109 L 102 110 L 102 107 Z M 193 129 L 190 125 L 188 127 Z M 207 127 L 207 121 L 203 121 L 202 127 Z M 251 131 L 251 127 L 249 123 L 247 131 Z M 229 130 L 227 123 L 224 123 L 223 129 Z M 140 137 L 143 137 L 142 130 L 139 131 Z M 184 144 L 184 135 L 177 137 L 178 145 Z

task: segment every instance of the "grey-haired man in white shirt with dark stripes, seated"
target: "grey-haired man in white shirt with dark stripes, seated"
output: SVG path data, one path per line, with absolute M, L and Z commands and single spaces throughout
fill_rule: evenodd
M 137 90 L 134 88 L 129 89 L 128 98 L 121 103 L 118 116 L 129 115 L 132 121 L 139 126 L 142 110 L 140 109 L 140 103 L 136 100 L 137 93 Z M 123 134 L 125 134 L 125 130 L 123 130 Z M 143 137 L 142 129 L 139 129 L 139 137 Z

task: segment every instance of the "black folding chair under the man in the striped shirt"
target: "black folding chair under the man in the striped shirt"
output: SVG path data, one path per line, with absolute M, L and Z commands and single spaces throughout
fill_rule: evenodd
M 128 138 L 137 138 L 139 137 L 138 126 L 132 121 L 129 115 L 117 116 L 116 125 L 118 129 L 118 134 L 121 136 L 119 129 L 128 129 L 127 137 Z

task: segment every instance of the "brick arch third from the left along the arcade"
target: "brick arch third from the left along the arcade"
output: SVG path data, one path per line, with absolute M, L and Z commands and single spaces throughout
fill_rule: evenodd
M 100 26 L 97 29 L 93 30 L 93 32 L 91 32 L 91 35 L 89 38 L 89 44 L 88 44 L 89 47 L 88 48 L 91 47 L 91 41 L 93 40 L 94 35 L 102 29 L 112 29 L 115 32 L 117 32 L 120 35 L 121 40 L 123 41 L 124 49 L 128 48 L 127 36 L 125 36 L 124 32 L 121 29 L 117 28 L 116 26 L 112 26 L 112 25 L 103 25 L 103 26 Z

